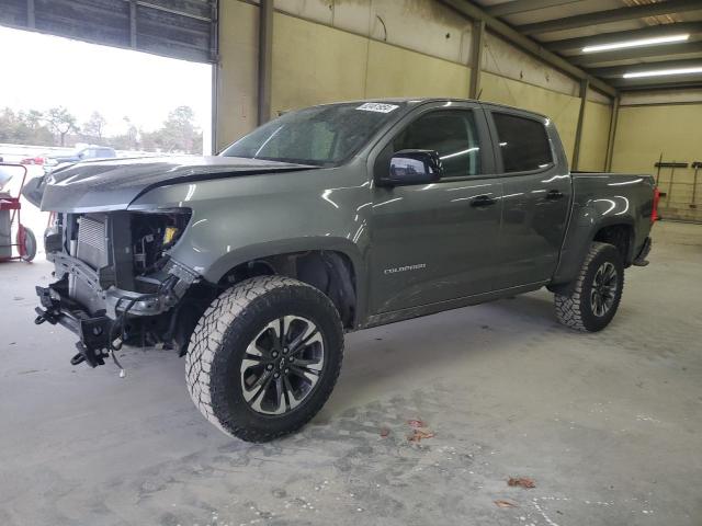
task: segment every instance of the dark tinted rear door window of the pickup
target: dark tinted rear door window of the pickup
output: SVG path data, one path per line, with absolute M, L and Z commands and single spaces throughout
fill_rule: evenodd
M 533 118 L 492 113 L 505 172 L 539 170 L 553 162 L 546 128 Z

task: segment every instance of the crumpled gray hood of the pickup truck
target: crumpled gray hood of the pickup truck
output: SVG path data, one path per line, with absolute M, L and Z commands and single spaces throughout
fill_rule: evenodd
M 80 162 L 46 175 L 42 210 L 125 209 L 157 186 L 318 167 L 238 157 L 146 157 Z

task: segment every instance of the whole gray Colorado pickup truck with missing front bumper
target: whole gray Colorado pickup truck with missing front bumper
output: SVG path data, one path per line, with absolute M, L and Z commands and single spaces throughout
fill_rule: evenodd
M 246 441 L 317 413 L 344 331 L 541 287 L 603 329 L 657 204 L 648 175 L 569 172 L 547 117 L 446 99 L 309 107 L 217 157 L 82 162 L 34 190 L 57 213 L 36 323 L 78 334 L 73 364 L 177 350 L 195 405 Z

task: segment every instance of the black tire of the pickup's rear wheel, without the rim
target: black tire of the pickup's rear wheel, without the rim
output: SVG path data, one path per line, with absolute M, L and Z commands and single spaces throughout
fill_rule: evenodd
M 595 274 L 605 262 L 612 263 L 616 270 L 618 287 L 609 311 L 598 317 L 595 315 L 590 295 Z M 593 242 L 585 256 L 578 277 L 571 284 L 561 287 L 555 294 L 556 318 L 561 323 L 576 331 L 601 331 L 614 318 L 623 289 L 624 265 L 619 250 L 609 243 Z

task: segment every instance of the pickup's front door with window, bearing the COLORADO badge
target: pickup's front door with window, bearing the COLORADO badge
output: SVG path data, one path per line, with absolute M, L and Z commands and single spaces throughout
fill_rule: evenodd
M 435 183 L 373 187 L 371 311 L 418 307 L 491 289 L 501 179 L 485 113 L 468 102 L 434 102 L 407 115 L 371 155 L 377 176 L 395 151 L 434 150 Z

